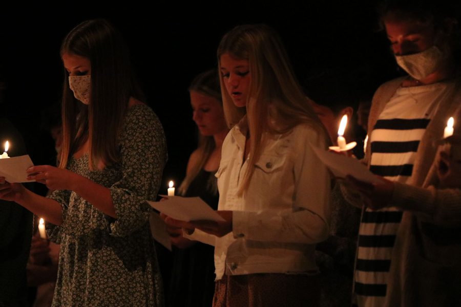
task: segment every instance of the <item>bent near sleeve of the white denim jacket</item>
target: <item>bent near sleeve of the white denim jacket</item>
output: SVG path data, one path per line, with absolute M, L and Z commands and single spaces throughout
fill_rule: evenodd
M 292 210 L 234 211 L 235 237 L 303 244 L 315 244 L 328 237 L 330 176 L 311 148 L 326 148 L 326 144 L 312 129 L 298 131 L 296 138 Z

